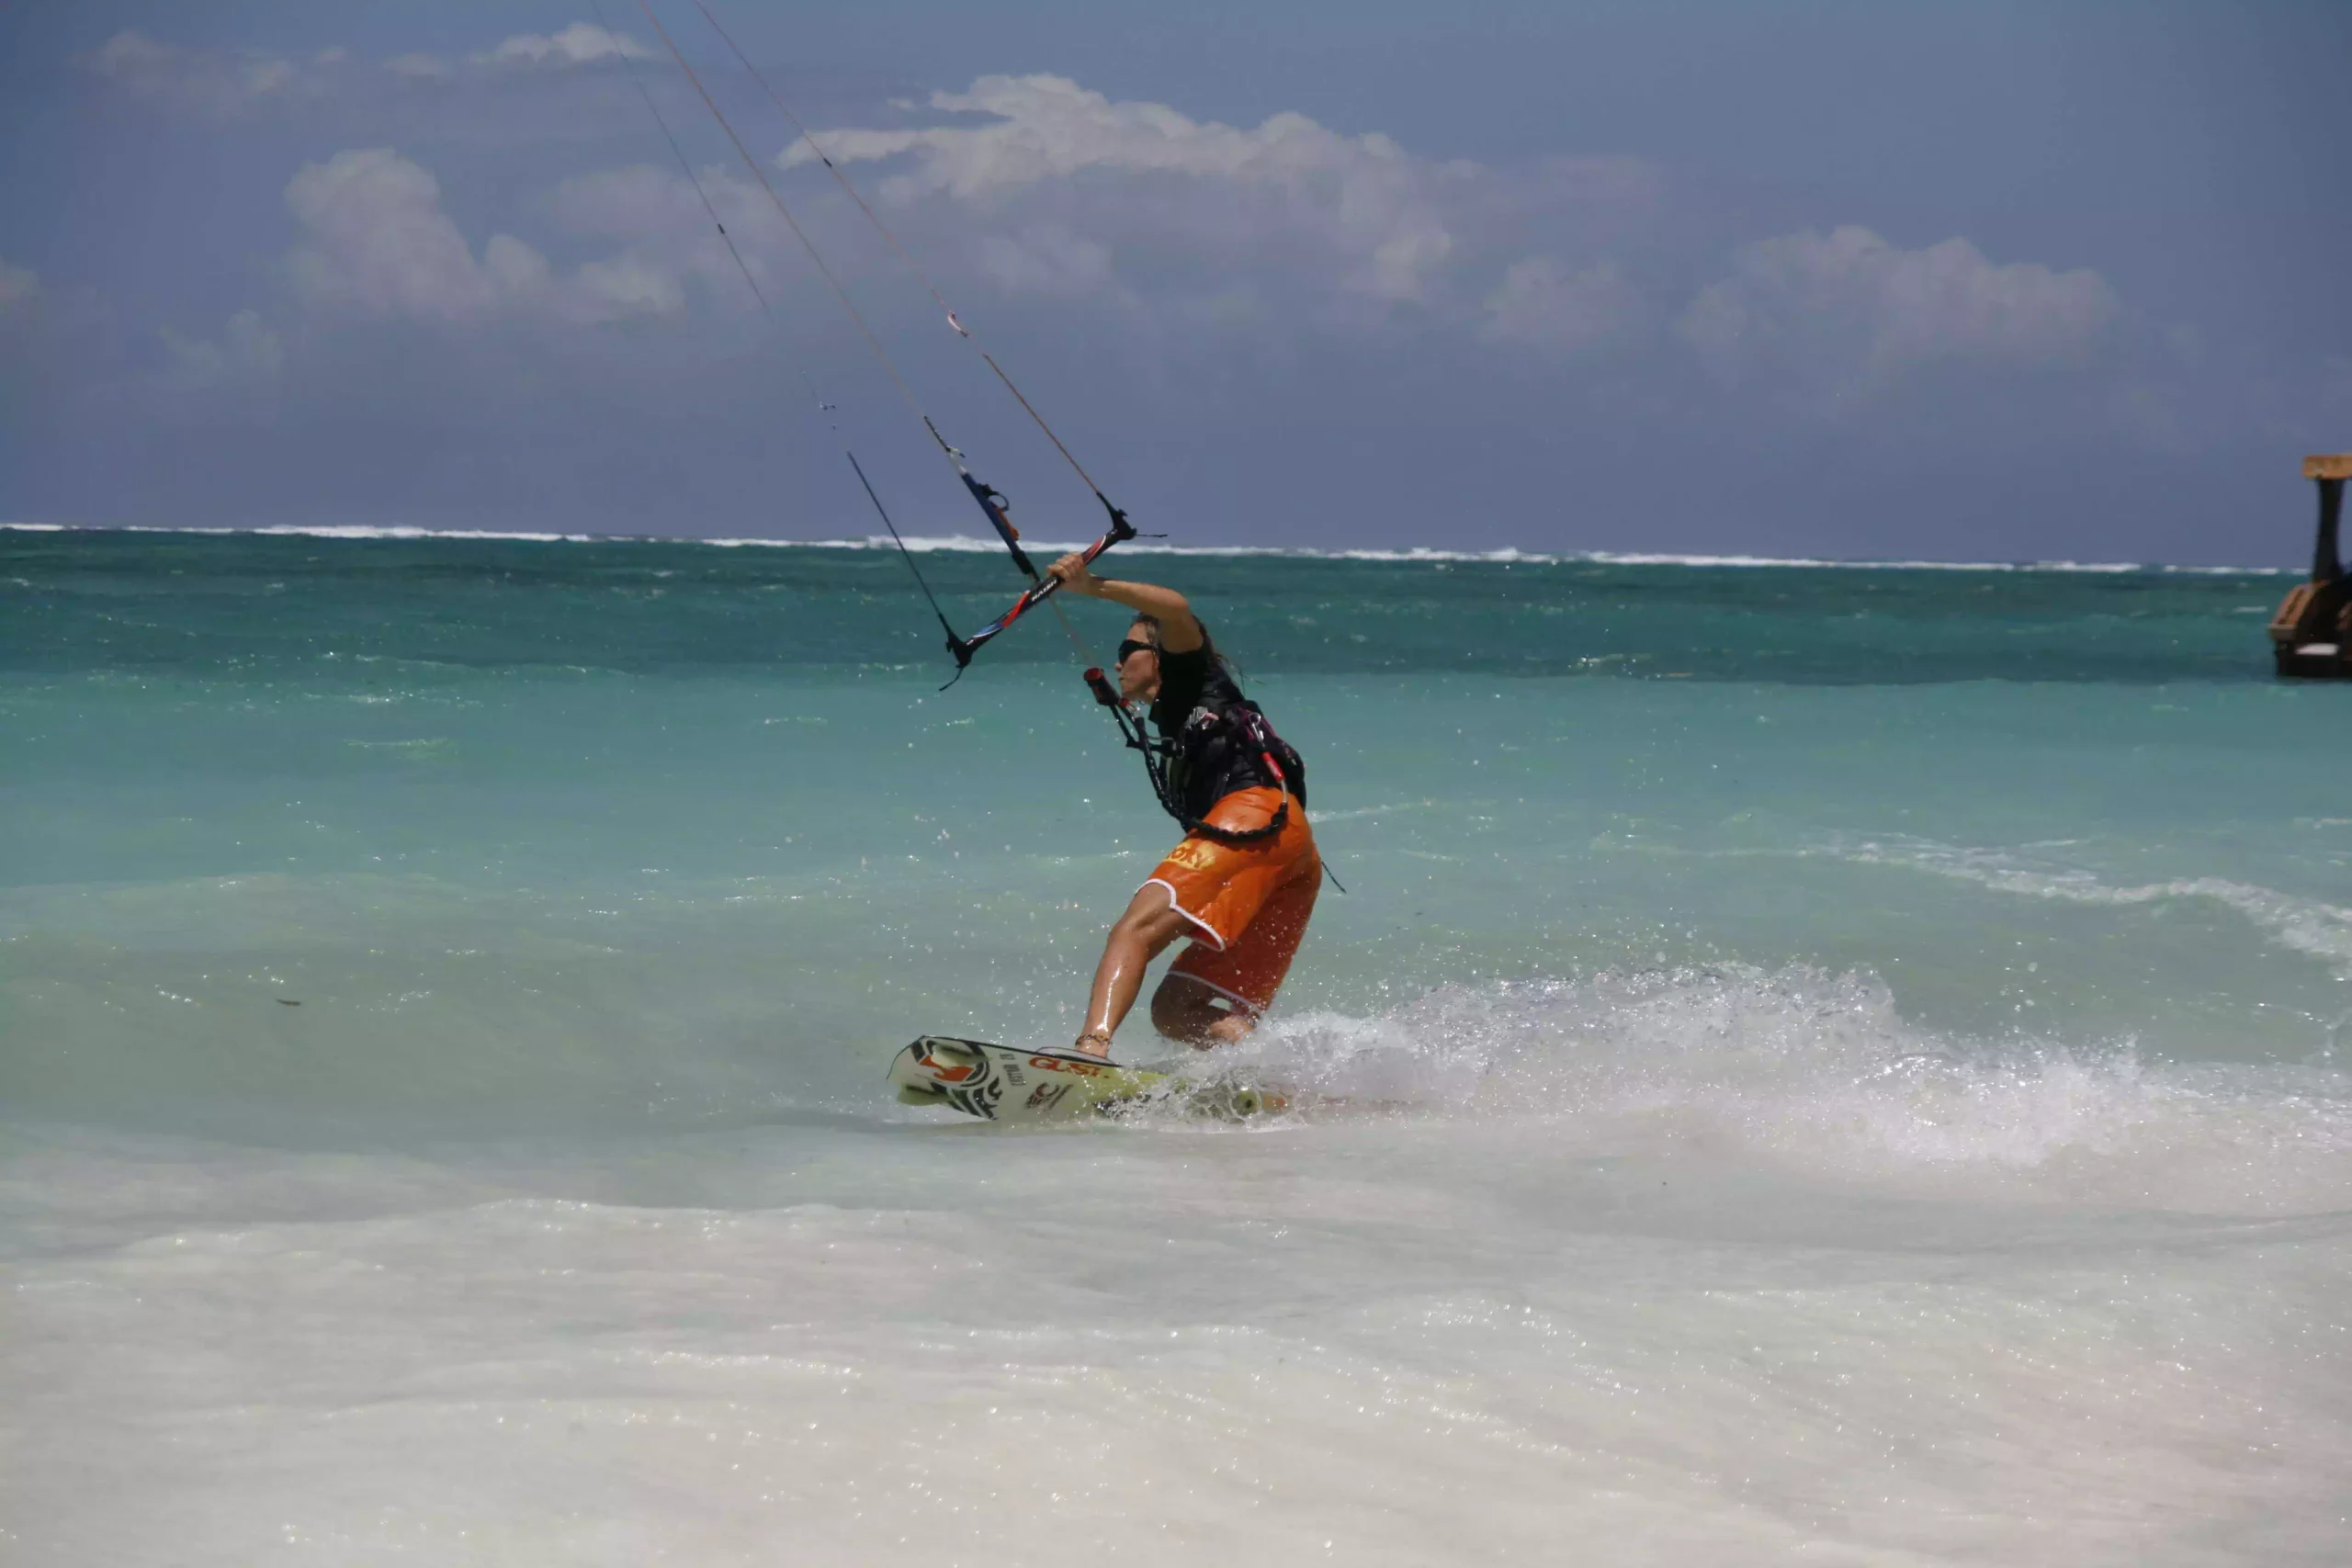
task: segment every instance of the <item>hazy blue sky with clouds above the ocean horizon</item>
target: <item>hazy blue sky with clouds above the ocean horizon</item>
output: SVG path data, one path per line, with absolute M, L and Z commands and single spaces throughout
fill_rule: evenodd
M 0 9 L 0 517 L 866 536 L 807 376 L 974 531 L 602 5 Z M 710 5 L 1185 543 L 2293 564 L 2296 461 L 2352 449 L 2345 5 Z M 656 14 L 974 470 L 1091 536 Z

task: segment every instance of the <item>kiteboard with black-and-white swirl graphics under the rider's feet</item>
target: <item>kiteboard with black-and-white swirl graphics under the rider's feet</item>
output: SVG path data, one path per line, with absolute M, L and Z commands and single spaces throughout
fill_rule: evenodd
M 946 1034 L 924 1034 L 891 1058 L 889 1081 L 906 1105 L 941 1105 L 1007 1124 L 1073 1121 L 1145 1107 L 1242 1121 L 1289 1107 L 1289 1095 L 1254 1084 L 1200 1081 L 1077 1051 L 1021 1051 Z

